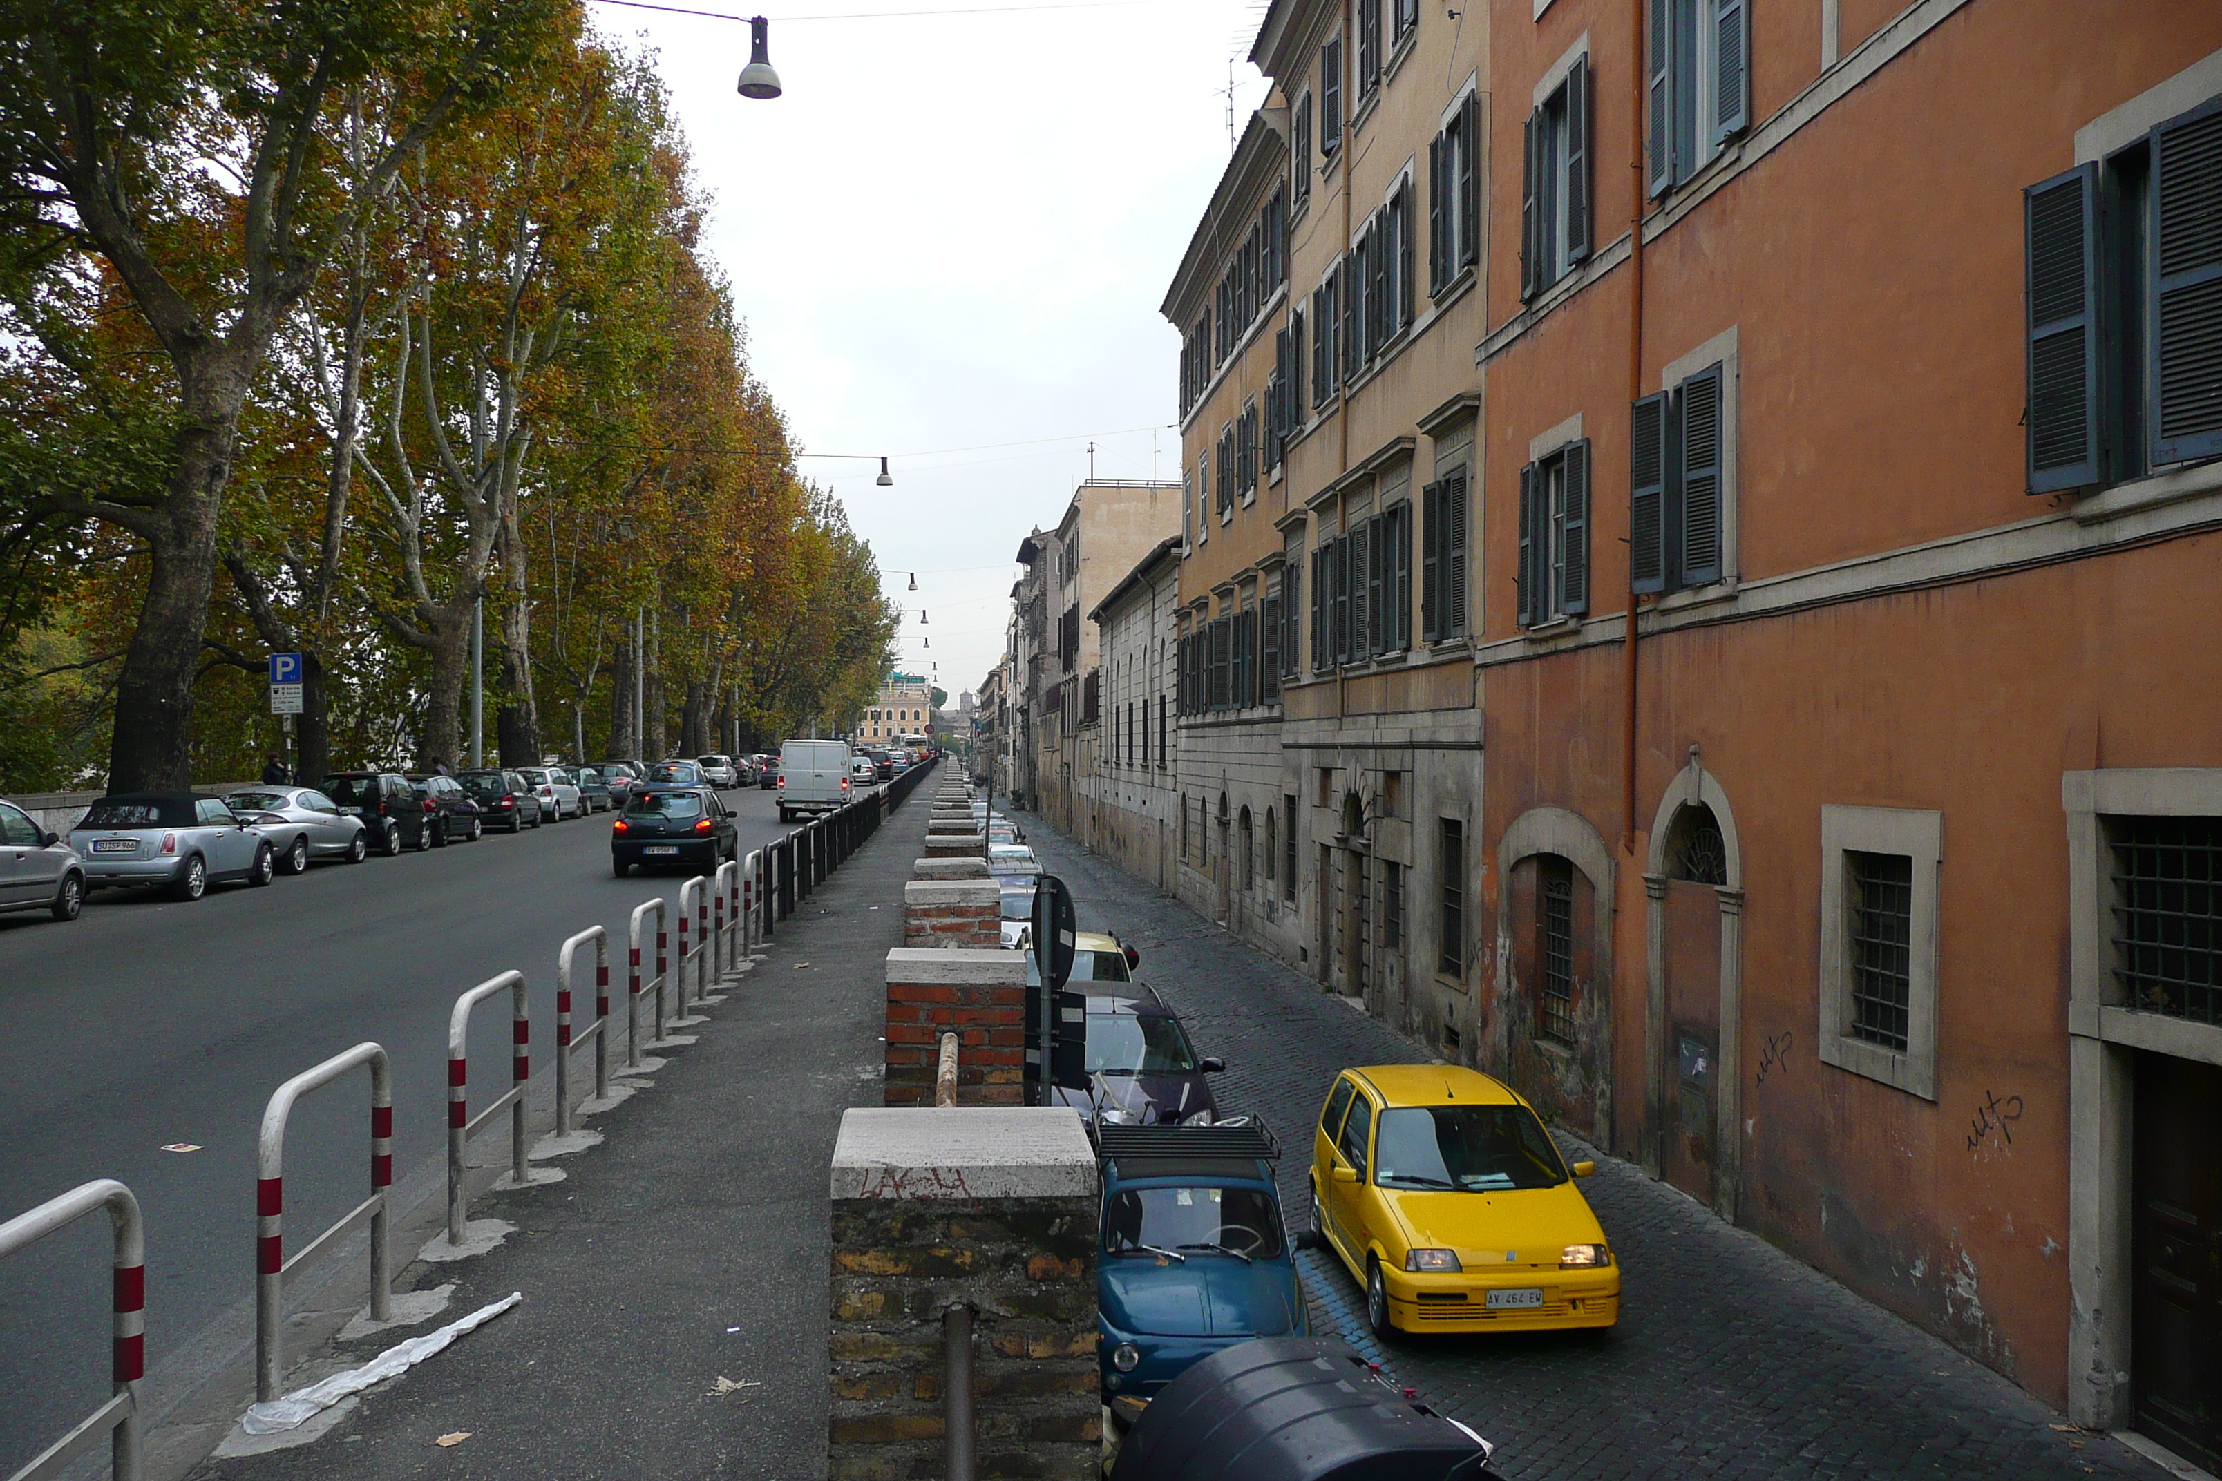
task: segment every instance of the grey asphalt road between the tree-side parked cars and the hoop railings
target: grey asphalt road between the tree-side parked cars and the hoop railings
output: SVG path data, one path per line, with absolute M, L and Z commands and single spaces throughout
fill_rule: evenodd
M 773 793 L 727 799 L 742 853 L 787 833 Z M 615 879 L 602 815 L 318 864 L 260 890 L 211 888 L 198 904 L 104 890 L 67 926 L 4 915 L 0 1024 L 13 1070 L 0 1075 L 0 1219 L 93 1177 L 122 1179 L 147 1212 L 149 1372 L 213 1361 L 213 1323 L 253 1294 L 256 1132 L 271 1090 L 351 1044 L 382 1044 L 393 1175 L 407 1181 L 444 1155 L 456 995 L 520 968 L 538 1068 L 556 1044 L 564 937 L 604 926 L 622 984 L 633 906 L 662 895 L 675 908 L 682 879 Z M 473 1024 L 473 1101 L 509 1084 L 507 1017 L 498 1008 Z M 367 1077 L 351 1075 L 293 1112 L 289 1252 L 367 1195 Z M 160 1150 L 169 1144 L 200 1150 Z M 107 1397 L 107 1270 L 104 1219 L 0 1261 L 0 1474 Z

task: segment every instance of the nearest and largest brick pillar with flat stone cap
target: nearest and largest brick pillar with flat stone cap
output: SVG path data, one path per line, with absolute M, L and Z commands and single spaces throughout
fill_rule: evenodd
M 1095 1159 L 1064 1108 L 849 1110 L 833 1152 L 831 1481 L 944 1472 L 944 1312 L 973 1310 L 980 1477 L 1091 1479 Z

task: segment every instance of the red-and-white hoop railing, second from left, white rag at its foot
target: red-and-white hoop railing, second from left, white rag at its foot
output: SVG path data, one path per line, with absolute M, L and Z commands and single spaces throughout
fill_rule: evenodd
M 356 1066 L 371 1066 L 371 1197 L 311 1239 L 293 1259 L 284 1257 L 284 1124 L 293 1101 L 329 1086 Z M 451 1092 L 453 1095 L 453 1092 Z M 358 1044 L 278 1086 L 262 1108 L 262 1139 L 256 1163 L 256 1401 L 278 1397 L 284 1379 L 284 1288 L 302 1266 L 333 1250 L 364 1223 L 371 1226 L 371 1319 L 393 1321 L 393 1252 L 387 1243 L 387 1188 L 393 1186 L 393 1068 L 378 1044 Z M 458 1235 L 460 1241 L 460 1235 Z

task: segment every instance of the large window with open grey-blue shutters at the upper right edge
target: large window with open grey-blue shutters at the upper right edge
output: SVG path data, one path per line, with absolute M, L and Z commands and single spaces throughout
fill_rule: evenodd
M 2222 453 L 2222 98 L 2024 191 L 2029 491 Z

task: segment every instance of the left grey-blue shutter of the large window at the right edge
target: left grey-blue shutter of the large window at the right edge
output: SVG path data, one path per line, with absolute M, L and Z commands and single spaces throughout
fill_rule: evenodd
M 2098 167 L 2022 191 L 2029 491 L 2098 482 Z

